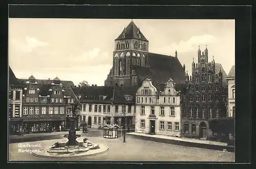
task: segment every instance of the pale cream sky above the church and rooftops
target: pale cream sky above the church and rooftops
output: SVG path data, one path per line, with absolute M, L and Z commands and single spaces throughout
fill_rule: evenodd
M 148 51 L 178 52 L 191 75 L 193 57 L 207 44 L 226 74 L 234 65 L 234 20 L 133 19 Z M 9 18 L 9 65 L 17 78 L 82 80 L 104 86 L 113 64 L 114 40 L 131 19 Z

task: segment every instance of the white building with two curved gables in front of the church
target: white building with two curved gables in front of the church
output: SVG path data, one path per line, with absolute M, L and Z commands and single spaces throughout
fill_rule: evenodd
M 180 137 L 180 93 L 169 78 L 163 91 L 157 91 L 146 78 L 136 93 L 135 132 Z

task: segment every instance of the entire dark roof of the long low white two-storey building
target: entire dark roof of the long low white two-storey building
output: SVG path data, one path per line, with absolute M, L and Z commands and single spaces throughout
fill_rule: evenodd
M 84 86 L 74 87 L 76 95 L 80 95 L 81 103 L 105 103 L 105 104 L 134 104 L 138 87 L 114 87 L 114 86 Z M 133 96 L 132 100 L 126 100 L 126 96 Z M 105 96 L 105 99 L 100 99 Z

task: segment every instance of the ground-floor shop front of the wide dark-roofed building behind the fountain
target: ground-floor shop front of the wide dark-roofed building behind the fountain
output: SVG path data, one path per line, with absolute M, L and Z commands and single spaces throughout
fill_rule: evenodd
M 29 115 L 23 119 L 24 133 L 60 131 L 66 120 L 65 115 Z

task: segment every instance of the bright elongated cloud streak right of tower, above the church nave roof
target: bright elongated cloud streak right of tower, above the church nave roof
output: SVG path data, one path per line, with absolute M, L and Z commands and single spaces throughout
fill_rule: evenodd
M 193 36 L 187 41 L 181 40 L 180 42 L 175 42 L 167 46 L 163 46 L 160 48 L 157 48 L 154 50 L 154 52 L 159 52 L 163 54 L 170 55 L 170 53 L 174 53 L 175 50 L 178 51 L 178 53 L 185 53 L 190 51 L 195 51 L 195 47 L 198 47 L 198 45 L 205 45 L 210 43 L 217 42 L 217 38 L 212 35 L 201 35 L 201 36 Z

